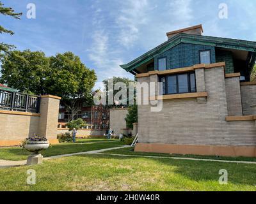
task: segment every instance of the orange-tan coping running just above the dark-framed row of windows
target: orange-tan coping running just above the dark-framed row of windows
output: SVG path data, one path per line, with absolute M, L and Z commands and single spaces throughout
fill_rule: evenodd
M 169 75 L 169 74 L 177 74 L 177 73 L 184 73 L 189 71 L 195 71 L 195 69 L 211 69 L 211 68 L 225 68 L 225 62 L 218 62 L 212 64 L 195 64 L 194 66 L 188 66 L 186 68 L 177 68 L 177 69 L 167 69 L 164 71 L 148 71 L 147 73 L 137 74 L 136 78 L 141 77 L 149 77 L 150 75 Z

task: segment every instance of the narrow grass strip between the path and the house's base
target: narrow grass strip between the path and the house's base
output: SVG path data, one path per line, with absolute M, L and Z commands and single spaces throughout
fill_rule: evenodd
M 195 159 L 216 159 L 216 160 L 228 160 L 228 161 L 256 161 L 255 157 L 216 157 L 216 156 L 200 156 L 200 155 L 134 152 L 134 147 L 127 147 L 127 148 L 116 149 L 116 150 L 108 150 L 108 151 L 103 152 L 103 153 L 139 155 L 139 156 L 188 157 L 188 158 L 195 158 Z

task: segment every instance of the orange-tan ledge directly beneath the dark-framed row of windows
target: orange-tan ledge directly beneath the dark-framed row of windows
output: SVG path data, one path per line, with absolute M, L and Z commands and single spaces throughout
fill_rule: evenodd
M 195 93 L 186 93 L 186 94 L 168 94 L 163 96 L 151 96 L 150 100 L 168 100 L 168 99 L 181 99 L 181 98 L 198 98 L 198 97 L 207 97 L 207 92 L 195 92 Z

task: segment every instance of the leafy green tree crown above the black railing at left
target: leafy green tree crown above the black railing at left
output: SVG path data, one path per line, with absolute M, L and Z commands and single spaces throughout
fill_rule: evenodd
M 1 83 L 20 92 L 37 95 L 47 93 L 45 80 L 50 68 L 49 59 L 44 52 L 15 50 L 5 54 L 1 62 Z

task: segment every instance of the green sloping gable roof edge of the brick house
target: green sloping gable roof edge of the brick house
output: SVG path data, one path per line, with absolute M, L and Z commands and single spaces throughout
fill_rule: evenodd
M 141 55 L 137 59 L 134 59 L 128 64 L 120 65 L 120 67 L 125 69 L 126 71 L 132 71 L 132 69 L 138 68 L 138 66 L 140 66 L 141 64 L 144 64 L 145 62 L 150 61 L 156 55 L 166 50 L 169 50 L 172 47 L 175 47 L 179 43 L 210 45 L 213 47 L 230 48 L 234 50 L 256 52 L 256 42 L 254 41 L 236 40 L 236 39 L 230 39 L 230 38 L 217 38 L 217 37 L 211 37 L 211 36 L 200 36 L 200 35 L 180 33 L 180 34 L 177 34 L 176 36 L 173 36 L 173 38 L 170 38 L 168 41 L 165 41 L 164 43 L 157 46 L 156 48 L 153 48 L 152 50 Z

